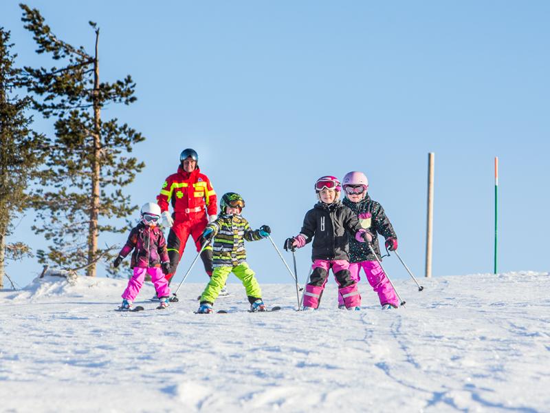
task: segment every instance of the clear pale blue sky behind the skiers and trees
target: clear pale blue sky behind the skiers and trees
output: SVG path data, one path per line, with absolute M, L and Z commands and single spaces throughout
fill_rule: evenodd
M 0 3 L 19 65 L 34 54 L 17 1 Z M 78 6 L 76 6 L 78 4 Z M 435 153 L 433 275 L 493 268 L 494 156 L 500 160 L 499 270 L 548 271 L 550 3 L 546 1 L 32 1 L 59 38 L 92 50 L 100 76 L 131 74 L 137 102 L 112 106 L 146 136 L 146 169 L 126 189 L 154 200 L 192 147 L 219 195 L 237 191 L 252 226 L 281 248 L 316 202 L 322 175 L 360 170 L 423 277 L 428 153 Z M 36 116 L 36 129 L 51 133 Z M 32 214 L 12 240 L 30 233 Z M 100 240 L 120 242 L 115 236 Z M 303 279 L 310 248 L 297 253 Z M 194 257 L 188 249 L 177 280 Z M 267 240 L 248 244 L 260 282 L 292 282 Z M 292 257 L 285 253 L 289 264 Z M 408 277 L 393 256 L 392 278 Z M 200 268 L 190 282 L 203 282 Z M 30 260 L 8 274 L 25 285 Z M 236 279 L 233 280 L 236 282 Z M 8 286 L 7 280 L 5 285 Z M 406 295 L 401 293 L 401 295 Z

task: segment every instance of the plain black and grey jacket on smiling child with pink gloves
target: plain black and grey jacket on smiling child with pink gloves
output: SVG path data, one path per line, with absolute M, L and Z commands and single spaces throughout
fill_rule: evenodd
M 357 215 L 344 207 L 342 202 L 332 204 L 318 202 L 305 214 L 300 233 L 306 244 L 313 239 L 312 260 L 346 260 L 349 261 L 350 237 L 361 229 Z

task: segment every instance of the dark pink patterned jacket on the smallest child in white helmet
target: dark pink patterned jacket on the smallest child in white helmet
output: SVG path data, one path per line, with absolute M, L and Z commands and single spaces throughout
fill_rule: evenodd
M 166 251 L 166 240 L 158 226 L 148 226 L 140 222 L 130 231 L 126 245 L 120 250 L 121 257 L 133 251 L 131 268 L 149 268 L 160 266 L 161 262 L 170 261 Z

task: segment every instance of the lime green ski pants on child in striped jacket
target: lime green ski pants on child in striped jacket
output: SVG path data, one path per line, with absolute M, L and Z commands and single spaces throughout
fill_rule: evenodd
M 227 281 L 230 273 L 234 273 L 241 280 L 243 286 L 246 288 L 246 295 L 248 295 L 249 301 L 252 298 L 258 299 L 262 297 L 262 290 L 260 284 L 256 281 L 256 277 L 254 277 L 254 271 L 252 271 L 252 268 L 246 262 L 243 262 L 237 266 L 215 267 L 212 277 L 210 277 L 210 282 L 208 282 L 201 295 L 201 303 L 208 302 L 214 304 L 221 288 L 225 286 L 225 281 Z

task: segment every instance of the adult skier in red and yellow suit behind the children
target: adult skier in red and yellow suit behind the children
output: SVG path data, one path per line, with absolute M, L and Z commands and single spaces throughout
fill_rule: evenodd
M 177 173 L 168 176 L 157 196 L 162 218 L 162 225 L 170 228 L 168 234 L 168 257 L 170 273 L 166 279 L 170 283 L 184 254 L 185 245 L 192 236 L 197 252 L 201 251 L 201 235 L 208 225 L 217 217 L 217 196 L 208 176 L 199 169 L 199 156 L 193 149 L 185 149 L 179 155 Z M 172 204 L 173 214 L 168 212 Z M 201 253 L 204 269 L 212 276 L 212 247 L 207 246 Z M 177 301 L 173 297 L 174 301 Z M 170 301 L 172 301 L 170 299 Z

